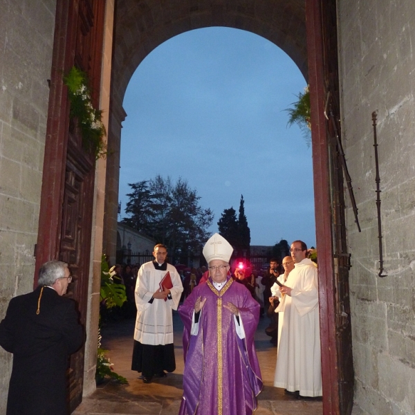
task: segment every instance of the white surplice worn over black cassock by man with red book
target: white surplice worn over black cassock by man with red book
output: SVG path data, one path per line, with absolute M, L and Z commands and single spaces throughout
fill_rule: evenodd
M 160 281 L 170 273 L 173 287 L 170 288 L 172 299 L 149 300 L 153 294 L 160 290 Z M 143 264 L 138 271 L 136 284 L 136 329 L 134 340 L 141 344 L 171 344 L 173 343 L 172 310 L 177 310 L 183 285 L 180 275 L 174 266 L 167 264 L 167 270 L 156 270 L 153 262 Z

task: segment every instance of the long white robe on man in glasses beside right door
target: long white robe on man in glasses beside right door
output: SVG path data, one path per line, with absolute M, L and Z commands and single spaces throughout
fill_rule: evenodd
M 317 268 L 303 259 L 291 271 L 285 283 L 292 288 L 284 295 L 277 311 L 282 331 L 278 347 L 275 387 L 299 391 L 301 396 L 322 395 L 320 318 L 318 309 Z

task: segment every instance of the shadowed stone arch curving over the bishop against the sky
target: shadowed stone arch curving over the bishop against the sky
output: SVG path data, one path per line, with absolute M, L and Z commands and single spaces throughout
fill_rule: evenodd
M 305 2 L 301 0 L 119 1 L 114 24 L 111 109 L 104 217 L 105 252 L 115 261 L 124 93 L 136 68 L 176 35 L 210 26 L 255 33 L 282 48 L 308 78 Z

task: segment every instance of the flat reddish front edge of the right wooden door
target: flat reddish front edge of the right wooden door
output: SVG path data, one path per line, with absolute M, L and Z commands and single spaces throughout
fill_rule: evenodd
M 322 345 L 323 414 L 340 414 L 335 336 L 333 233 L 329 178 L 329 142 L 324 106 L 324 47 L 321 0 L 306 0 L 308 80 L 311 98 L 313 181 L 318 247 L 320 337 Z

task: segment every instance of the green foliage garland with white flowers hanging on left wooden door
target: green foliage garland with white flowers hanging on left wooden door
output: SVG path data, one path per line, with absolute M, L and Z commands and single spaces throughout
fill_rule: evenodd
M 68 87 L 68 98 L 71 101 L 71 118 L 76 118 L 82 135 L 82 146 L 95 155 L 95 160 L 107 156 L 107 145 L 102 140 L 106 135 L 101 122 L 102 111 L 94 109 L 91 93 L 87 86 L 86 73 L 72 66 L 68 75 L 64 76 L 64 84 Z

